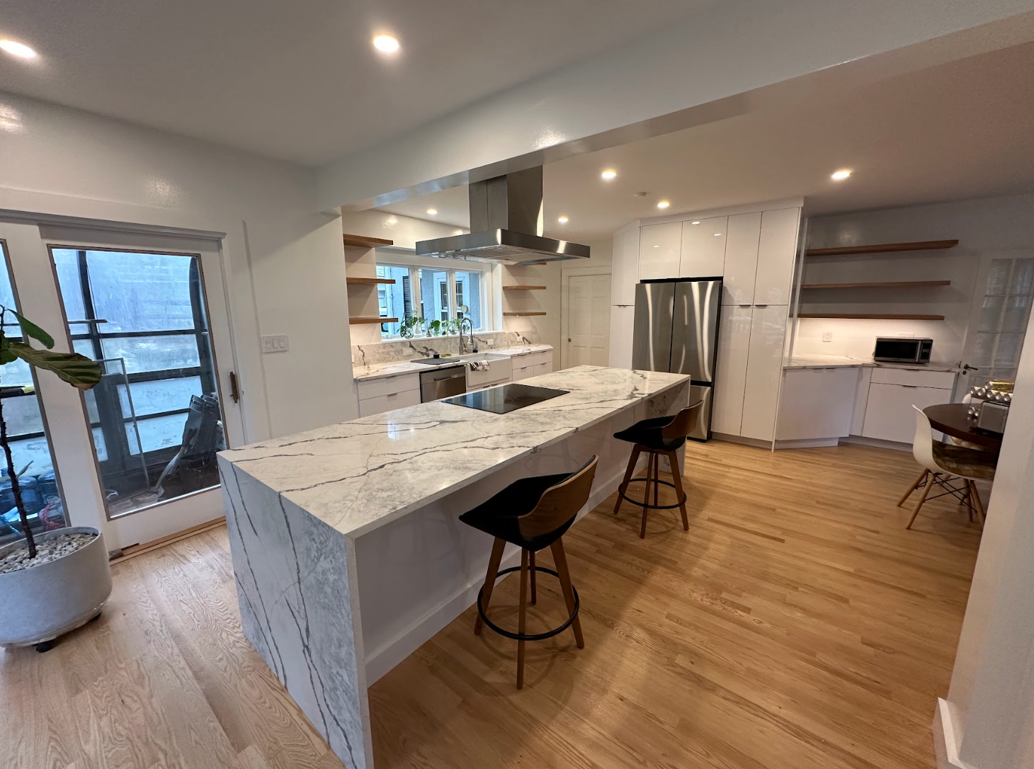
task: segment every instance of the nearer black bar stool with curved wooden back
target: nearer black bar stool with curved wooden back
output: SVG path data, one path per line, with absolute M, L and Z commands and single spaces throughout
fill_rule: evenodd
M 488 625 L 500 636 L 517 642 L 517 688 L 524 686 L 524 642 L 543 641 L 557 636 L 568 627 L 575 634 L 579 649 L 585 648 L 578 621 L 578 591 L 571 584 L 568 560 L 564 555 L 560 537 L 575 522 L 575 516 L 588 501 L 596 475 L 597 458 L 594 456 L 580 469 L 556 475 L 537 475 L 515 481 L 491 499 L 479 504 L 459 517 L 463 523 L 495 537 L 492 555 L 488 559 L 485 585 L 478 592 L 478 618 L 474 623 L 475 635 L 481 635 L 482 625 Z M 499 571 L 503 550 L 507 543 L 521 549 L 520 566 Z M 553 552 L 556 571 L 538 566 L 535 554 L 549 548 Z M 518 610 L 517 633 L 499 627 L 487 616 L 488 603 L 492 598 L 495 581 L 511 572 L 520 572 L 520 608 Z M 568 618 L 556 627 L 545 633 L 525 633 L 528 574 L 531 576 L 531 603 L 537 599 L 535 574 L 543 572 L 556 577 L 560 582 L 564 603 L 567 604 Z

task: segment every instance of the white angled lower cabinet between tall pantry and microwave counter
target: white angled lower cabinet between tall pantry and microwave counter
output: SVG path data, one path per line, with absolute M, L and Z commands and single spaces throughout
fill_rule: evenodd
M 783 374 L 779 440 L 843 438 L 851 434 L 859 369 L 787 369 Z

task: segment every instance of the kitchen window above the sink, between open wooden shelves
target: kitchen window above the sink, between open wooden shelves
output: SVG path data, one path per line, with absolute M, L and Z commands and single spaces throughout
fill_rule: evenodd
M 475 331 L 493 330 L 495 269 L 491 264 L 378 252 L 377 277 L 395 281 L 377 288 L 381 315 L 399 319 L 382 325 L 382 337 L 401 336 L 402 324 L 412 317 L 427 322 L 466 317 Z

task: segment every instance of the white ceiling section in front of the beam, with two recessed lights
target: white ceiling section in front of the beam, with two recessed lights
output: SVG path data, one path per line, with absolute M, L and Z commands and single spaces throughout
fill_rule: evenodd
M 8 0 L 0 89 L 317 164 L 714 2 Z

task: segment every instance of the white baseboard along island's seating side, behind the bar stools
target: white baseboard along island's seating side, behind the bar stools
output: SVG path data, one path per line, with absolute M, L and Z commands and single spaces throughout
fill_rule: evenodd
M 618 470 L 611 478 L 607 479 L 605 483 L 601 484 L 596 491 L 589 494 L 588 501 L 585 503 L 585 506 L 579 511 L 578 516 L 575 519 L 575 523 L 587 516 L 589 511 L 595 510 L 596 506 L 599 505 L 604 499 L 613 494 L 617 490 L 617 487 L 624 476 L 625 470 Z M 510 547 L 508 546 L 507 549 L 509 550 Z M 519 565 L 519 563 L 520 550 L 513 548 L 513 552 L 503 556 L 500 566 L 509 568 L 510 566 Z M 374 681 L 419 649 L 421 644 L 427 641 L 427 639 L 434 636 L 434 634 L 438 633 L 447 624 L 466 611 L 467 607 L 474 606 L 474 602 L 478 597 L 478 591 L 481 589 L 483 584 L 483 579 L 484 578 L 477 579 L 469 583 L 451 598 L 443 602 L 435 608 L 431 609 L 423 617 L 413 622 L 413 624 L 399 633 L 393 640 L 388 641 L 387 643 L 382 644 L 378 648 L 367 652 L 367 685 L 372 685 Z

